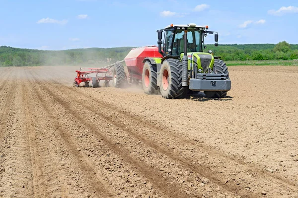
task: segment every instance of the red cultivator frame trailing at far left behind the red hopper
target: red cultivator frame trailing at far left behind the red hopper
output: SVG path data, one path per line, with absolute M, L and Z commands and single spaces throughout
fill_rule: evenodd
M 75 79 L 74 79 L 74 86 L 79 87 L 81 82 L 84 82 L 84 87 L 89 87 L 89 82 L 92 83 L 92 87 L 99 87 L 99 81 L 104 81 L 104 86 L 108 87 L 110 80 L 112 80 L 112 76 L 110 75 L 110 71 L 108 68 L 81 68 L 81 70 L 88 70 L 88 71 L 78 71 Z M 95 74 L 95 77 L 89 77 L 88 74 Z

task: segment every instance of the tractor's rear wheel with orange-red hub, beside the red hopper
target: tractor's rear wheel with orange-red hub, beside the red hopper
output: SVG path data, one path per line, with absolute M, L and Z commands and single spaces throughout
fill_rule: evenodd
M 157 73 L 156 71 L 154 71 L 154 68 L 149 61 L 146 61 L 144 63 L 142 73 L 142 86 L 145 94 L 151 95 L 157 92 Z

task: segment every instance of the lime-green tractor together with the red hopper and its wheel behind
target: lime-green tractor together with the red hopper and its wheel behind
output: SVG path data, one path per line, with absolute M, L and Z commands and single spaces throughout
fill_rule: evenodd
M 177 99 L 191 91 L 204 91 L 208 98 L 225 97 L 231 89 L 229 73 L 219 56 L 211 50 L 203 52 L 208 34 L 215 35 L 218 46 L 219 35 L 208 31 L 208 26 L 171 24 L 157 30 L 158 47 L 135 48 L 125 57 L 128 75 L 123 65 L 115 65 L 114 86 L 120 87 L 127 76 L 142 83 L 146 94 L 161 93 L 165 99 Z

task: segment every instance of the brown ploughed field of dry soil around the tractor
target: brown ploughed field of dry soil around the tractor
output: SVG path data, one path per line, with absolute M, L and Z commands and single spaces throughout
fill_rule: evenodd
M 0 68 L 0 198 L 297 198 L 298 67 L 229 67 L 224 99 Z

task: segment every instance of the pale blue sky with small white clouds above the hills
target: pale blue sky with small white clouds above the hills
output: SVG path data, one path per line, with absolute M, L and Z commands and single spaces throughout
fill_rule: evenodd
M 297 0 L 0 0 L 0 46 L 157 45 L 169 24 L 208 25 L 220 44 L 298 44 Z M 206 44 L 213 44 L 212 35 Z

